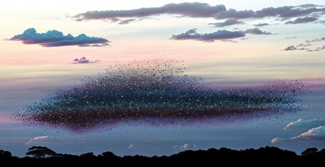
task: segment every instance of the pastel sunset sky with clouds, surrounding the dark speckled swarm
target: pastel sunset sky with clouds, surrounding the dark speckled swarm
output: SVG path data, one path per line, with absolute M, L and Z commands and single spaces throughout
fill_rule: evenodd
M 121 156 L 266 145 L 299 154 L 324 147 L 322 128 L 314 129 L 320 132 L 317 139 L 298 137 L 318 127 L 308 126 L 315 125 L 308 120 L 325 119 L 324 1 L 6 1 L 0 21 L 0 149 L 13 155 L 25 156 L 33 145 L 61 153 L 111 151 Z M 317 92 L 303 96 L 308 105 L 283 120 L 244 125 L 164 132 L 123 127 L 79 138 L 9 119 L 26 103 L 53 96 L 110 65 L 155 58 L 183 60 L 187 74 L 201 76 L 211 87 L 297 79 Z M 307 129 L 283 129 L 299 119 Z

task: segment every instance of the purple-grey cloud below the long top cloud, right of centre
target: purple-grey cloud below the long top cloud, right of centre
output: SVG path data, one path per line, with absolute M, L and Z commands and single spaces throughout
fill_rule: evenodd
M 214 40 L 228 40 L 234 38 L 245 37 L 245 33 L 250 33 L 254 35 L 270 35 L 272 33 L 262 31 L 258 28 L 247 29 L 246 31 L 228 31 L 228 30 L 218 30 L 213 33 L 200 34 L 196 32 L 197 29 L 191 29 L 185 33 L 178 35 L 173 35 L 170 39 L 172 40 L 197 40 L 203 42 L 214 42 Z M 272 34 L 273 35 L 273 34 Z

